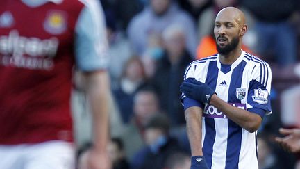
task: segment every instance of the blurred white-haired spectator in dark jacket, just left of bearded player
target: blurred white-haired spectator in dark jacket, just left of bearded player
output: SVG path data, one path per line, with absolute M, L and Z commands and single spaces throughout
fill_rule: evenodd
M 183 26 L 172 24 L 163 31 L 165 52 L 157 61 L 156 72 L 153 76 L 153 86 L 158 90 L 160 106 L 171 120 L 172 126 L 185 124 L 183 106 L 179 98 L 179 86 L 183 79 L 185 68 L 192 61 L 185 45 Z

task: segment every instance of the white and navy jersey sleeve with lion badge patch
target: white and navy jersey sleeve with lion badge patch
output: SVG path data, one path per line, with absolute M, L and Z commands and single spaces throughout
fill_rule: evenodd
M 270 101 L 272 72 L 269 65 L 262 62 L 253 71 L 253 76 L 251 77 L 247 97 L 247 110 L 263 118 L 263 116 L 272 113 Z

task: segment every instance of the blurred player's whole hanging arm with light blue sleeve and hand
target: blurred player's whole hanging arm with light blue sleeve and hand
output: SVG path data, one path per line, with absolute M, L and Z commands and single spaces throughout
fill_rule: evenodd
M 85 92 L 92 113 L 92 147 L 85 153 L 82 163 L 86 168 L 108 169 L 110 161 L 106 149 L 109 140 L 110 84 L 106 26 L 99 1 L 81 2 L 85 7 L 76 22 L 74 50 L 76 67 L 84 72 Z

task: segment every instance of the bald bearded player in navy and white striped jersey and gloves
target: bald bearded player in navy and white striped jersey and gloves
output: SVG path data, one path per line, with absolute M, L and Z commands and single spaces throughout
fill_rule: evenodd
M 214 27 L 218 54 L 185 72 L 181 100 L 192 169 L 258 169 L 256 131 L 272 113 L 272 74 L 267 63 L 242 51 L 245 23 L 238 8 L 222 9 Z

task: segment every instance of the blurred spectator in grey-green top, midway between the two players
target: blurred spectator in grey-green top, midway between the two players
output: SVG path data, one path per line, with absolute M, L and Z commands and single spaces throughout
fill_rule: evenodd
M 144 145 L 144 125 L 151 115 L 160 112 L 156 92 L 147 87 L 138 90 L 133 98 L 133 110 L 133 118 L 121 136 L 127 159 L 131 159 Z

